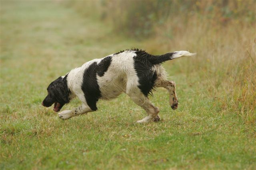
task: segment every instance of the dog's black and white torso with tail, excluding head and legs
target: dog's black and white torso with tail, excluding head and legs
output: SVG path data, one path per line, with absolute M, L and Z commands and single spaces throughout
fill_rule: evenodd
M 183 53 L 182 53 L 183 52 Z M 158 79 L 165 79 L 166 72 L 161 63 L 185 55 L 193 55 L 187 51 L 167 53 L 165 55 L 150 55 L 142 50 L 126 50 L 102 59 L 94 59 L 84 63 L 68 73 L 68 86 L 80 98 L 81 92 L 96 95 L 96 100 L 110 100 L 122 92 L 129 94 L 137 88 L 148 96 Z M 86 86 L 84 90 L 81 86 Z

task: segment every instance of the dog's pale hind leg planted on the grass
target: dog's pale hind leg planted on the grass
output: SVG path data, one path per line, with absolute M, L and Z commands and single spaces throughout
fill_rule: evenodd
M 144 117 L 143 119 L 137 121 L 137 123 L 148 123 L 152 119 L 154 121 L 159 121 L 160 117 L 158 116 L 159 109 L 158 107 L 155 107 L 150 100 L 144 96 L 141 92 L 138 93 L 131 93 L 128 94 L 132 101 L 136 103 L 138 106 L 142 107 L 145 109 L 145 111 L 148 113 L 148 116 Z M 156 118 L 155 118 L 156 117 Z

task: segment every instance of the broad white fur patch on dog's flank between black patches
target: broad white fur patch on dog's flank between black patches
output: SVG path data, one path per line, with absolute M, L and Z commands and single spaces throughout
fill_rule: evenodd
M 134 51 L 124 51 L 112 56 L 112 62 L 104 76 L 97 76 L 102 99 L 110 100 L 122 92 L 129 94 L 138 87 L 138 77 L 134 69 Z

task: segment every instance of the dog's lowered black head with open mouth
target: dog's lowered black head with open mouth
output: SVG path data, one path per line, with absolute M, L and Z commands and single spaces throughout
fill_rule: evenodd
M 54 104 L 53 110 L 56 112 L 60 111 L 64 104 L 67 104 L 70 100 L 66 77 L 59 77 L 51 82 L 47 91 L 48 95 L 44 98 L 42 105 L 50 107 Z

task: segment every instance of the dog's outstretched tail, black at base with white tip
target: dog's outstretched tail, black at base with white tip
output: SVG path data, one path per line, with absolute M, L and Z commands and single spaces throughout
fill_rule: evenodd
M 150 62 L 152 64 L 160 64 L 164 61 L 180 58 L 180 57 L 190 57 L 190 56 L 196 56 L 196 53 L 190 53 L 188 51 L 175 51 L 173 53 L 166 53 L 164 55 L 156 55 L 150 57 Z

